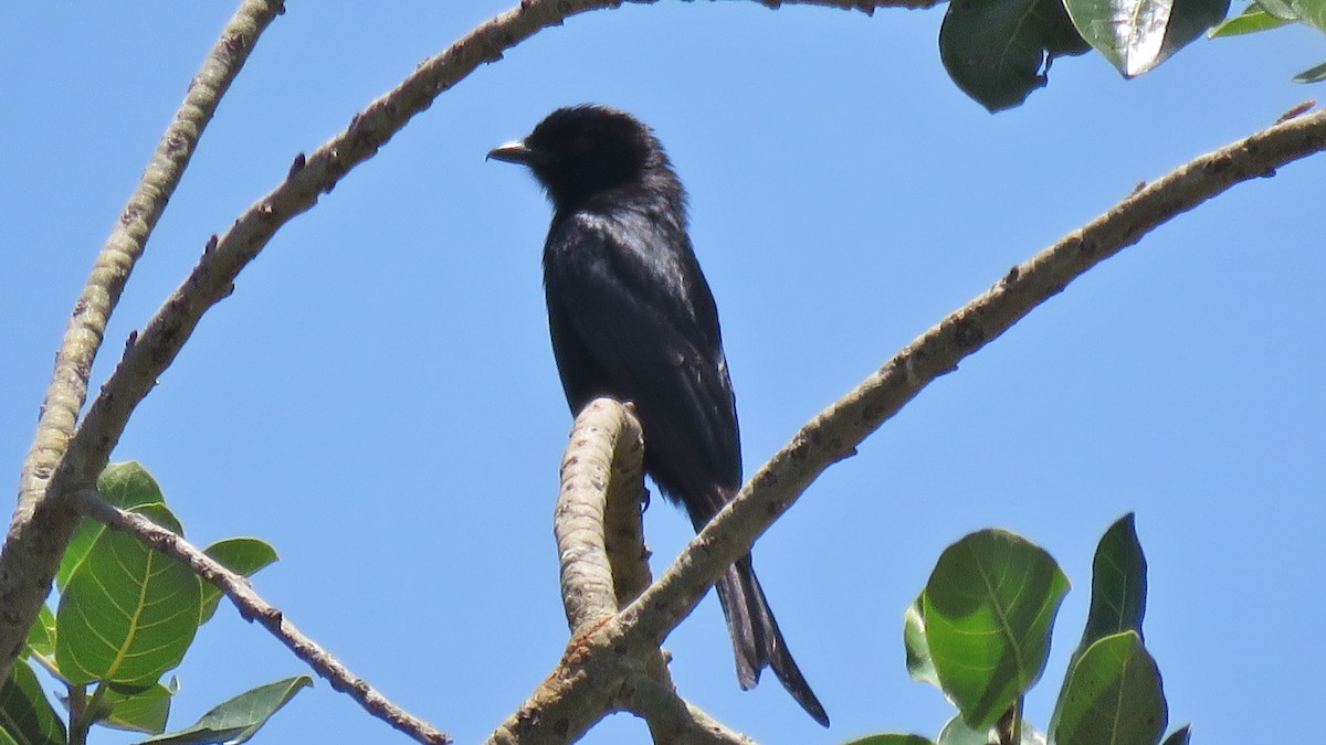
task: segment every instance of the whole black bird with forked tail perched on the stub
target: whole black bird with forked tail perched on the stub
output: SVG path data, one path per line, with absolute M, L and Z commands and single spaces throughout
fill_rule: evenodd
M 586 105 L 553 111 L 529 137 L 488 156 L 528 166 L 553 203 L 544 286 L 572 412 L 597 396 L 634 402 L 644 469 L 699 532 L 741 487 L 741 445 L 719 314 L 686 232 L 686 192 L 663 146 L 635 117 Z M 741 688 L 773 667 L 827 726 L 751 555 L 716 587 Z

